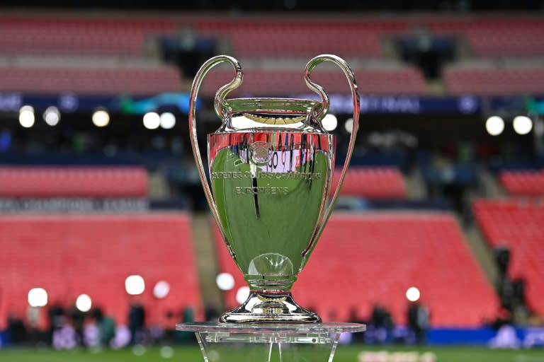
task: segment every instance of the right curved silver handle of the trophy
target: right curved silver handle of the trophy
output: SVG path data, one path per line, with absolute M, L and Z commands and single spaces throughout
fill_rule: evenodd
M 348 152 L 346 154 L 346 160 L 344 162 L 344 166 L 342 167 L 341 173 L 340 173 L 340 180 L 338 183 L 338 187 L 336 187 L 336 190 L 334 191 L 334 194 L 332 195 L 331 199 L 329 200 L 329 203 L 324 206 L 322 209 L 321 214 L 319 215 L 319 221 L 317 223 L 317 228 L 314 233 L 314 237 L 312 238 L 312 242 L 310 245 L 308 245 L 305 252 L 302 253 L 302 255 L 307 255 L 308 252 L 311 252 L 315 246 L 315 243 L 317 243 L 317 240 L 319 239 L 319 236 L 323 233 L 323 230 L 325 228 L 325 225 L 327 224 L 327 221 L 329 220 L 329 217 L 332 214 L 332 211 L 334 209 L 334 204 L 336 204 L 336 200 L 339 197 L 340 189 L 342 187 L 342 184 L 344 183 L 344 177 L 346 177 L 346 171 L 348 170 L 348 165 L 351 160 L 351 155 L 353 154 L 353 148 L 355 147 L 355 139 L 357 135 L 357 131 L 359 128 L 359 111 L 360 111 L 360 100 L 359 100 L 359 91 L 357 88 L 357 82 L 355 80 L 355 74 L 353 74 L 353 71 L 351 70 L 350 66 L 346 63 L 344 59 L 341 57 L 336 57 L 336 55 L 332 54 L 322 54 L 318 55 L 317 57 L 314 57 L 313 59 L 306 64 L 305 69 L 305 81 L 308 88 L 310 88 L 315 93 L 319 94 L 321 96 L 322 102 L 317 103 L 314 107 L 314 119 L 317 120 L 317 122 L 321 123 L 321 120 L 327 115 L 327 111 L 329 110 L 329 95 L 327 95 L 327 92 L 322 88 L 322 86 L 319 86 L 318 84 L 312 82 L 310 79 L 310 74 L 314 70 L 314 68 L 323 63 L 323 62 L 333 62 L 334 64 L 338 65 L 342 71 L 344 71 L 344 74 L 346 75 L 346 78 L 348 79 L 349 88 L 351 89 L 351 97 L 353 98 L 353 129 L 351 130 L 351 136 L 349 138 L 349 144 L 348 144 Z M 334 169 L 334 164 L 331 164 L 331 168 Z M 332 171 L 332 170 L 331 170 Z M 332 176 L 332 173 L 331 173 Z M 332 177 L 331 177 L 332 180 Z M 331 181 L 329 180 L 329 182 Z M 330 186 L 329 186 L 330 187 Z

